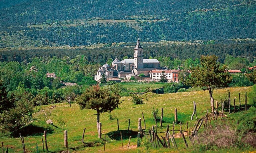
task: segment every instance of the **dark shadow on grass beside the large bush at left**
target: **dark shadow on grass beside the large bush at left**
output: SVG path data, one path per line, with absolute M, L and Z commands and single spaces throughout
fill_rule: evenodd
M 42 127 L 34 124 L 29 124 L 21 129 L 20 133 L 22 136 L 38 136 L 43 135 L 44 131 L 47 130 L 47 134 L 51 134 L 54 130 L 52 127 Z

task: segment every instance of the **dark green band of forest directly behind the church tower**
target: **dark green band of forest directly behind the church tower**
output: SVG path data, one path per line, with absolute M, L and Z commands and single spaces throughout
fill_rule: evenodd
M 142 42 L 143 45 L 143 42 Z M 144 58 L 169 57 L 170 60 L 179 58 L 185 60 L 188 58 L 200 58 L 201 55 L 216 55 L 219 61 L 224 63 L 226 55 L 232 57 L 241 57 L 252 62 L 256 57 L 256 43 L 242 44 L 200 44 L 200 45 L 168 45 L 168 46 L 145 46 Z M 31 61 L 35 56 L 59 57 L 68 56 L 70 59 L 76 58 L 77 55 L 83 55 L 84 59 L 92 63 L 104 64 L 108 59 L 133 59 L 133 47 L 106 47 L 97 49 L 31 49 L 31 50 L 8 50 L 0 52 L 0 61 L 18 61 L 25 64 Z M 161 60 L 160 60 L 161 61 Z M 161 61 L 162 63 L 162 61 Z

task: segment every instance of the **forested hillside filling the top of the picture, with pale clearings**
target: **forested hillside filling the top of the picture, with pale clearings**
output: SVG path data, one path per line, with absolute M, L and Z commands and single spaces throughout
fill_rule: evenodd
M 256 38 L 256 2 L 249 0 L 14 4 L 8 1 L 0 10 L 1 48 L 135 42 L 138 35 L 144 42 Z

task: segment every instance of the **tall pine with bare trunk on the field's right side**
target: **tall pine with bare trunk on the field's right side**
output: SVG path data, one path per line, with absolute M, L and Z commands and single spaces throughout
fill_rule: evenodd
M 227 87 L 232 81 L 232 76 L 225 71 L 226 66 L 220 67 L 217 62 L 218 57 L 215 55 L 201 56 L 201 67 L 191 67 L 191 76 L 187 75 L 183 81 L 186 85 L 192 87 L 206 87 L 211 99 L 211 112 L 214 113 L 214 101 L 212 97 L 212 89 L 219 87 Z

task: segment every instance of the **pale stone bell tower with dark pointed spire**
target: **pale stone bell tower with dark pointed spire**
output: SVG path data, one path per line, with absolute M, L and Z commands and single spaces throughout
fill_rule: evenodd
M 140 44 L 140 39 L 138 38 L 136 47 L 134 48 L 134 66 L 135 68 L 143 68 L 143 48 Z

